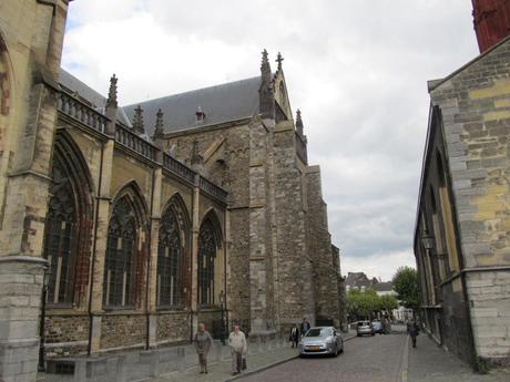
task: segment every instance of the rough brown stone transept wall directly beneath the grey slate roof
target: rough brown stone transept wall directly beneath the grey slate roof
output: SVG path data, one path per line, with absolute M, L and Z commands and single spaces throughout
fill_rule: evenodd
M 230 192 L 228 209 L 231 242 L 227 242 L 227 309 L 230 319 L 249 322 L 251 292 L 246 275 L 249 250 L 249 127 L 246 124 L 224 128 L 201 128 L 172 133 L 166 147 L 174 147 L 174 156 L 184 162 L 191 157 L 193 141 L 197 140 L 204 157 L 204 171 L 214 168 L 214 162 L 223 159 L 226 171 L 223 177 L 212 178 Z M 208 173 L 207 173 L 208 174 Z

